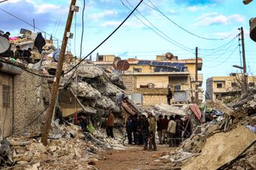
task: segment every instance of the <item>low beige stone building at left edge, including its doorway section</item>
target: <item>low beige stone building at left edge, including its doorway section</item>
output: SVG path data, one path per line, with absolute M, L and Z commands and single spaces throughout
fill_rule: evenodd
M 48 79 L 20 67 L 25 69 L 21 63 L 0 58 L 0 140 L 12 134 L 38 132 L 43 125 L 43 110 L 50 96 Z

